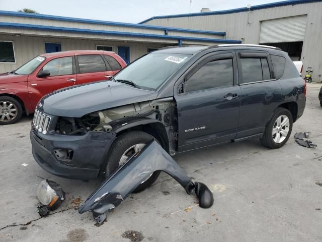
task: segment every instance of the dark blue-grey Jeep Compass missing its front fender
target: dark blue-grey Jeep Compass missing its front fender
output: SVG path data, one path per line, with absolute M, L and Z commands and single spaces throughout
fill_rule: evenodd
M 170 155 L 251 138 L 280 148 L 303 114 L 305 92 L 290 57 L 276 47 L 165 47 L 109 81 L 43 97 L 32 153 L 52 174 L 87 180 L 110 176 L 152 139 Z

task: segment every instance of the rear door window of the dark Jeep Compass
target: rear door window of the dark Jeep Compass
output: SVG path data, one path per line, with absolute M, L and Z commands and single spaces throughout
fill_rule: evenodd
M 267 58 L 240 58 L 241 74 L 240 83 L 259 82 L 270 80 L 270 69 Z

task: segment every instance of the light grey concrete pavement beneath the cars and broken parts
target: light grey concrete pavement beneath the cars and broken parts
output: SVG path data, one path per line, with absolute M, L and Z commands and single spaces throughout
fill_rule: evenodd
M 91 213 L 78 214 L 72 201 L 84 201 L 101 181 L 64 179 L 40 168 L 31 154 L 31 118 L 1 126 L 0 241 L 129 241 L 129 234 L 134 241 L 322 241 L 322 187 L 315 184 L 322 183 L 320 85 L 308 85 L 304 114 L 281 149 L 250 140 L 176 157 L 194 180 L 213 191 L 210 209 L 200 208 L 162 174 L 108 213 L 100 227 Z M 303 131 L 311 132 L 317 148 L 294 142 L 293 135 Z M 60 183 L 67 199 L 40 218 L 36 188 L 45 178 Z

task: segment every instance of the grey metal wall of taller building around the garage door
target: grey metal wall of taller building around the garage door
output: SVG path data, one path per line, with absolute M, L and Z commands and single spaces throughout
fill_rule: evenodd
M 249 22 L 248 24 L 248 15 Z M 261 21 L 307 15 L 306 31 L 303 42 L 301 61 L 303 73 L 307 67 L 313 68 L 313 80 L 321 81 L 322 75 L 322 2 L 288 5 L 275 8 L 254 10 L 250 13 L 192 16 L 180 18 L 152 19 L 144 24 L 216 30 L 226 32 L 227 39 L 242 40 L 243 43 L 258 44 Z

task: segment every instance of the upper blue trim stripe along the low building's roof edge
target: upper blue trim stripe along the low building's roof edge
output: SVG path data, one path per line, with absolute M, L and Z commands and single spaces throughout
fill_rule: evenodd
M 103 21 L 103 20 L 81 19 L 81 18 L 71 18 L 71 17 L 62 17 L 62 16 L 45 15 L 45 14 L 21 13 L 21 12 L 12 12 L 12 11 L 0 11 L 0 15 L 27 17 L 27 18 L 35 18 L 35 19 L 60 20 L 60 21 L 87 23 L 87 24 L 103 24 L 103 25 L 132 27 L 132 28 L 141 28 L 141 29 L 155 29 L 155 30 L 163 30 L 163 31 L 168 30 L 168 31 L 188 32 L 188 33 L 197 33 L 197 34 L 212 34 L 212 35 L 220 35 L 220 36 L 226 35 L 225 32 L 217 32 L 217 31 L 181 29 L 181 28 L 172 28 L 172 27 L 164 27 L 164 26 L 130 24 L 130 23 Z

